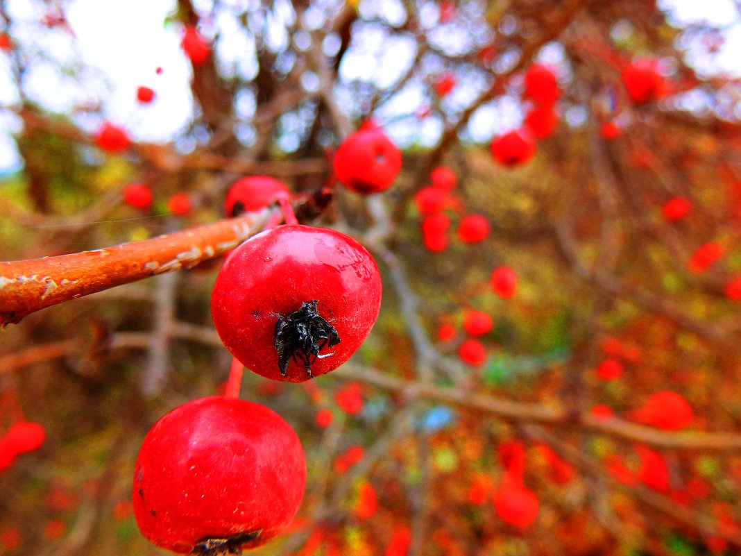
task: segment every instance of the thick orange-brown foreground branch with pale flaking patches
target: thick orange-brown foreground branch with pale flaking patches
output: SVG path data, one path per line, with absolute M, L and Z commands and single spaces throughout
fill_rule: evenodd
M 76 297 L 155 274 L 191 268 L 262 229 L 269 211 L 114 247 L 0 262 L 0 325 Z

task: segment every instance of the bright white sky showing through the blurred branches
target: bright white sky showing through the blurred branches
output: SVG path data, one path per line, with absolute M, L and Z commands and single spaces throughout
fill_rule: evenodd
M 231 1 L 244 4 L 251 0 Z M 392 0 L 386 1 L 393 4 Z M 361 1 L 361 11 L 365 13 L 377 5 L 376 0 Z M 174 9 L 175 0 L 72 0 L 66 15 L 76 33 L 76 46 L 63 30 L 39 33 L 38 21 L 44 16 L 41 6 L 33 0 L 7 0 L 16 38 L 26 49 L 38 47 L 54 60 L 67 64 L 79 60 L 81 67 L 87 66 L 90 70 L 82 75 L 86 88 L 81 90 L 76 79 L 59 75 L 55 62 L 33 64 L 35 69 L 27 76 L 29 96 L 44 99 L 47 108 L 60 112 L 68 112 L 70 105 L 90 107 L 100 102 L 104 118 L 123 125 L 134 139 L 165 142 L 183 130 L 193 112 L 188 85 L 190 64 L 179 47 L 180 27 L 176 24 L 165 26 L 164 23 Z M 676 24 L 705 21 L 727 27 L 733 22 L 722 31 L 725 43 L 716 56 L 696 55 L 693 51 L 688 55 L 688 62 L 710 72 L 723 71 L 741 76 L 741 25 L 732 0 L 659 0 L 659 6 L 670 12 L 670 21 Z M 393 10 L 389 13 L 393 15 Z M 232 33 L 224 33 L 228 40 L 219 43 L 220 62 L 248 79 L 256 69 L 253 45 L 239 34 L 233 22 L 224 19 L 218 24 L 220 28 L 234 27 L 230 30 Z M 282 42 L 285 37 L 278 33 L 271 40 Z M 399 48 L 403 49 L 403 44 Z M 400 56 L 384 58 L 386 69 L 393 63 L 401 67 L 408 63 L 409 56 L 401 53 Z M 355 64 L 347 65 L 351 69 Z M 157 67 L 162 67 L 162 75 L 156 75 Z M 376 77 L 382 80 L 382 76 Z M 9 105 L 16 100 L 12 83 L 8 55 L 0 51 L 0 105 Z M 139 85 L 156 91 L 156 99 L 150 105 L 136 102 L 136 87 Z M 408 90 L 405 98 L 399 98 L 389 109 L 395 111 L 402 107 L 402 110 L 413 112 L 420 97 L 419 90 Z M 451 95 L 451 99 L 445 102 L 461 101 Z M 410 106 L 413 107 L 410 109 Z M 499 126 L 518 125 L 513 119 L 519 116 L 509 117 L 513 113 L 517 114 L 519 110 L 513 110 L 511 102 L 503 97 L 476 113 L 469 133 L 476 139 L 491 136 L 494 133 L 493 121 Z M 93 132 L 101 122 L 97 116 L 90 116 L 88 110 L 80 114 L 75 121 L 89 132 Z M 574 118 L 578 117 L 574 114 Z M 20 161 L 10 137 L 17 125 L 18 122 L 7 112 L 0 112 L 0 173 L 19 168 Z M 441 122 L 439 119 L 425 119 L 420 125 L 423 134 L 435 137 L 440 132 Z M 402 136 L 410 133 L 408 125 L 391 126 L 389 131 L 392 135 L 399 133 Z M 414 133 L 419 134 L 419 126 Z M 402 136 L 399 139 L 403 141 Z

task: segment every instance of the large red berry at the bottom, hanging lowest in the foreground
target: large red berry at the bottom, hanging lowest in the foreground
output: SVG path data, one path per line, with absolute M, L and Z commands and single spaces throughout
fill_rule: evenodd
M 144 437 L 134 515 L 147 539 L 173 552 L 237 552 L 285 530 L 305 486 L 299 438 L 278 414 L 204 397 L 173 409 Z

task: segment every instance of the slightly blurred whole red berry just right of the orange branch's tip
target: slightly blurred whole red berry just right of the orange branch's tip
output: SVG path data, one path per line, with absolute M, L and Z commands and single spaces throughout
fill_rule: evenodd
M 345 187 L 358 193 L 378 193 L 393 184 L 402 169 L 402 153 L 381 128 L 368 125 L 339 145 L 334 173 Z

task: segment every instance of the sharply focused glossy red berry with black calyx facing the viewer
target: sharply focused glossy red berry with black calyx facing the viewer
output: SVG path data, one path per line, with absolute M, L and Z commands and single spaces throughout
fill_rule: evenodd
M 296 383 L 345 363 L 368 337 L 380 305 L 381 276 L 362 245 L 327 228 L 283 225 L 253 236 L 227 258 L 211 314 L 222 342 L 245 367 Z M 308 316 L 305 329 L 296 311 Z M 299 334 L 302 329 L 311 334 Z

